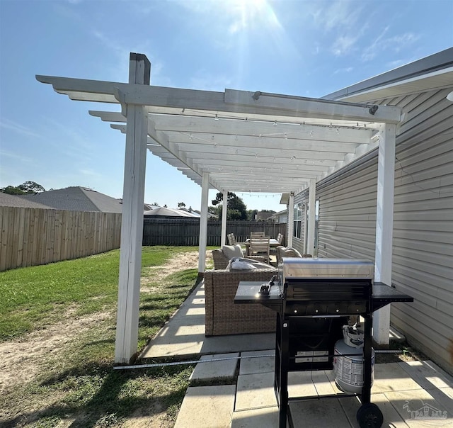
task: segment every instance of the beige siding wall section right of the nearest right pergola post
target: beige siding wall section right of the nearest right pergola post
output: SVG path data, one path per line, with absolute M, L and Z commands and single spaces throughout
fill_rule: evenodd
M 414 303 L 393 305 L 391 322 L 453 371 L 453 104 L 445 100 L 448 92 L 413 96 L 405 107 L 410 120 L 397 141 L 392 280 Z

